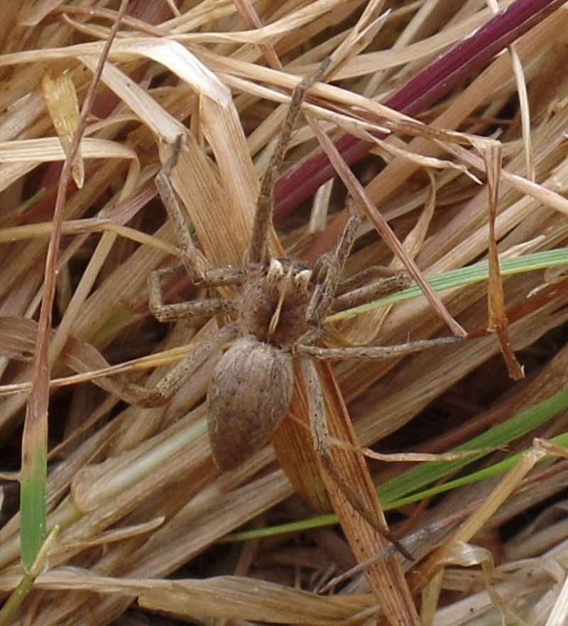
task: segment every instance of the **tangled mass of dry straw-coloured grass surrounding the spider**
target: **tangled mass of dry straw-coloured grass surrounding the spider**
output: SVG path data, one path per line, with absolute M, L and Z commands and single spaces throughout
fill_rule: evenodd
M 34 373 L 39 396 L 33 397 L 41 398 L 33 361 L 40 355 L 36 336 L 60 163 L 79 124 L 75 98 L 85 99 L 117 7 L 4 4 L 0 434 L 1 469 L 13 481 Z M 43 370 L 52 380 L 48 529 L 60 531 L 41 564 L 45 571 L 34 573 L 35 588 L 6 623 L 98 626 L 120 620 L 133 600 L 195 623 L 327 625 L 378 615 L 399 625 L 492 624 L 501 615 L 531 625 L 565 623 L 568 529 L 557 504 L 567 471 L 567 10 L 558 9 L 515 43 L 523 72 L 515 77 L 512 53 L 503 53 L 483 72 L 469 70 L 441 102 L 415 110 L 423 122 L 417 123 L 378 101 L 388 101 L 485 23 L 491 11 L 484 2 L 386 3 L 393 11 L 384 23 L 365 23 L 361 0 L 261 1 L 255 7 L 268 25 L 263 28 L 246 26 L 236 8 L 244 13 L 246 2 L 190 4 L 175 18 L 165 1 L 133 4 L 69 168 L 79 187 L 70 183 L 61 205 L 50 370 Z M 373 6 L 383 14 L 380 2 Z M 187 137 L 187 148 L 173 182 L 204 262 L 239 265 L 268 161 L 264 148 L 278 135 L 299 77 L 332 53 L 339 57 L 333 85 L 310 92 L 310 124 L 300 122 L 287 157 L 288 187 L 283 182 L 276 190 L 273 251 L 313 262 L 344 225 L 339 184 L 318 199 L 310 224 L 305 210 L 290 214 L 296 207 L 286 205 L 286 190 L 310 185 L 305 162 L 297 163 L 316 148 L 318 125 L 329 135 L 339 126 L 367 140 L 387 131 L 388 139 L 373 139 L 373 153 L 354 166 L 371 202 L 364 206 L 361 196 L 358 206 L 368 219 L 348 271 L 378 263 L 400 268 L 376 235 L 376 229 L 386 233 L 382 216 L 422 274 L 441 276 L 451 288 L 442 294 L 445 309 L 418 297 L 334 324 L 350 342 L 393 344 L 448 334 L 440 317 L 447 310 L 469 339 L 403 361 L 320 367 L 332 433 L 351 441 L 334 451 L 340 471 L 378 516 L 356 442 L 403 454 L 406 463 L 368 464 L 384 507 L 398 510 L 392 529 L 417 561 L 391 552 L 367 566 L 366 578 L 354 571 L 334 594 L 318 595 L 329 578 L 376 556 L 388 542 L 320 476 L 302 426 L 309 416 L 301 377 L 291 414 L 273 441 L 280 463 L 268 447 L 222 475 L 210 456 L 202 406 L 216 355 L 165 407 L 141 409 L 121 397 L 126 378 L 150 387 L 217 328 L 216 319 L 197 329 L 185 322 L 165 327 L 148 312 L 148 275 L 180 256 L 153 185 L 176 136 Z M 528 99 L 519 106 L 523 86 Z M 500 145 L 503 170 L 495 154 Z M 553 250 L 555 256 L 537 257 Z M 451 270 L 486 259 L 492 260 L 489 282 L 458 274 L 457 283 L 444 283 Z M 168 299 L 203 296 L 187 287 L 174 281 Z M 502 356 L 508 341 L 525 367 L 526 378 L 516 383 L 508 378 L 515 371 L 512 353 Z M 47 353 L 40 357 L 45 363 Z M 43 441 L 38 406 L 28 407 L 32 454 Z M 535 437 L 544 441 L 533 449 Z M 443 463 L 410 456 L 443 455 L 458 446 L 476 452 L 434 457 Z M 408 471 L 408 461 L 417 460 Z M 451 483 L 457 479 L 462 483 Z M 327 527 L 333 522 L 327 517 L 310 520 L 329 507 L 326 493 L 342 531 Z M 20 521 L 16 515 L 0 529 L 6 598 L 23 576 Z M 243 527 L 251 531 L 246 542 L 218 543 Z M 175 579 L 166 579 L 172 573 Z

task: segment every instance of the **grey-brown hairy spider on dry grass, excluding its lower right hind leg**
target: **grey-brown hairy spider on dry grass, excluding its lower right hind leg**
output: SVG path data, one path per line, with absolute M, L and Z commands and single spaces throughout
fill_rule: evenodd
M 197 370 L 213 350 L 229 344 L 217 363 L 207 391 L 207 424 L 214 462 L 222 471 L 236 468 L 271 439 L 290 407 L 294 390 L 293 360 L 341 360 L 346 358 L 388 358 L 416 352 L 453 337 L 415 341 L 398 346 L 325 347 L 324 320 L 328 314 L 373 300 L 382 283 L 361 287 L 366 270 L 349 280 L 342 274 L 354 243 L 359 216 L 348 203 L 349 219 L 334 251 L 321 256 L 313 268 L 290 258 L 272 258 L 268 238 L 272 227 L 273 191 L 283 165 L 286 148 L 308 89 L 327 70 L 324 62 L 312 77 L 295 88 L 288 113 L 261 181 L 249 248 L 241 268 L 200 270 L 197 250 L 187 229 L 187 213 L 170 182 L 180 141 L 173 155 L 156 176 L 156 186 L 168 216 L 173 221 L 182 248 L 182 264 L 195 285 L 216 289 L 231 285 L 236 299 L 209 297 L 205 300 L 165 304 L 160 285 L 168 273 L 179 268 L 157 270 L 148 282 L 150 308 L 160 322 L 195 319 L 225 314 L 233 321 L 222 326 L 190 356 L 180 361 L 155 390 L 138 402 L 157 405 L 172 397 L 180 385 Z M 381 273 L 376 270 L 376 273 Z M 400 275 L 386 279 L 391 289 L 405 285 Z M 388 288 L 388 287 L 387 287 Z M 312 424 L 312 429 L 317 425 Z M 317 434 L 315 436 L 317 440 Z M 324 451 L 323 451 L 324 454 Z

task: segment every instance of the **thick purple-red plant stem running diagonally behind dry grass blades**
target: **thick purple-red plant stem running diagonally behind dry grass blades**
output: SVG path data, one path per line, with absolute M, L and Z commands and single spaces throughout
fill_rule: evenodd
M 407 115 L 422 113 L 562 4 L 564 0 L 517 0 L 410 79 L 384 104 Z M 348 165 L 363 158 L 375 145 L 346 133 L 334 143 Z M 321 148 L 306 155 L 276 183 L 275 221 L 290 214 L 335 175 L 333 165 Z

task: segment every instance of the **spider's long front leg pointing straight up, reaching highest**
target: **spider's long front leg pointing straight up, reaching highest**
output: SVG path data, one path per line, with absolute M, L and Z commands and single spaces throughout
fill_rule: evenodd
M 322 79 L 331 62 L 331 58 L 327 57 L 316 72 L 311 76 L 303 78 L 293 91 L 282 131 L 280 132 L 278 142 L 271 155 L 271 160 L 268 163 L 268 168 L 266 168 L 266 172 L 261 181 L 261 191 L 258 194 L 251 243 L 249 244 L 247 254 L 247 260 L 252 265 L 266 265 L 268 263 L 268 237 L 272 226 L 272 214 L 274 210 L 274 187 L 282 171 L 286 150 L 290 143 L 290 138 L 292 137 L 297 119 L 300 116 L 302 102 L 305 99 L 306 93 L 310 87 Z

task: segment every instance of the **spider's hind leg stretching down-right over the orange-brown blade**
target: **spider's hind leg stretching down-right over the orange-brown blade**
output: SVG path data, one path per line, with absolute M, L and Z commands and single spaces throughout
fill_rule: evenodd
M 414 557 L 409 554 L 400 542 L 393 538 L 391 531 L 388 529 L 385 520 L 379 519 L 376 511 L 371 510 L 361 498 L 361 495 L 347 482 L 335 466 L 332 456 L 332 437 L 327 427 L 327 419 L 325 414 L 325 402 L 320 384 L 319 375 L 315 363 L 309 358 L 300 359 L 300 368 L 304 377 L 308 406 L 310 409 L 310 429 L 312 431 L 312 440 L 320 459 L 324 471 L 336 483 L 337 487 L 342 491 L 345 498 L 359 512 L 359 515 L 366 520 L 373 528 L 376 528 L 384 537 L 386 537 L 400 551 L 405 559 L 414 561 Z

